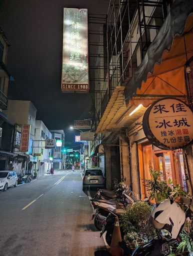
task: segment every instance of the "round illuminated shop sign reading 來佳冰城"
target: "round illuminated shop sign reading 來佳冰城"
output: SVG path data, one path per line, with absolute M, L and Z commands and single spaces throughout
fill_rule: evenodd
M 193 139 L 193 113 L 179 99 L 157 100 L 144 113 L 143 130 L 148 140 L 159 148 L 181 148 Z

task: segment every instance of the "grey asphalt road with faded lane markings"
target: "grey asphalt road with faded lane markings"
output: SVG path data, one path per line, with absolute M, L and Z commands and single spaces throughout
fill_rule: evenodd
M 89 221 L 87 194 L 79 170 L 55 171 L 0 192 L 0 256 L 93 256 L 105 248 Z

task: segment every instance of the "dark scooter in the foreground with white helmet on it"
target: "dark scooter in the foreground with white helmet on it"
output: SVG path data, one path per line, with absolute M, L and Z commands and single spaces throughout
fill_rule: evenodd
M 124 256 L 163 256 L 170 254 L 170 245 L 179 243 L 181 238 L 179 233 L 185 222 L 185 212 L 172 199 L 165 199 L 153 207 L 151 210 L 148 226 L 152 224 L 157 233 L 156 239 L 151 239 L 147 243 L 138 246 L 132 253 L 129 245 L 122 240 L 119 245 L 123 249 Z M 160 235 L 159 229 L 166 229 L 171 239 L 165 239 Z M 132 255 L 131 255 L 132 254 Z M 107 250 L 95 251 L 95 256 L 110 256 Z M 188 255 L 182 252 L 180 255 Z

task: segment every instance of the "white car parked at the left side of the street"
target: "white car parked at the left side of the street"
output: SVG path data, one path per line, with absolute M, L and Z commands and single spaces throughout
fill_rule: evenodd
M 17 174 L 10 170 L 0 170 L 0 189 L 6 191 L 10 186 L 17 186 Z

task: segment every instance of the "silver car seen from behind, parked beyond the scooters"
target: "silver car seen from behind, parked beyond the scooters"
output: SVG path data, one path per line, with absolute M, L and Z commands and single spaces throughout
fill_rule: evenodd
M 88 168 L 85 170 L 85 174 L 82 180 L 82 190 L 88 186 L 105 188 L 105 178 L 101 169 Z

